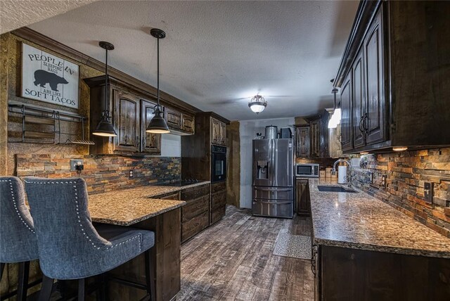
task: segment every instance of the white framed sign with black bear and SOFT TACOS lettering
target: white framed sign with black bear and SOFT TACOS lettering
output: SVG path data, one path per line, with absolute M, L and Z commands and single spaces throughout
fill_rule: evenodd
M 77 109 L 79 65 L 22 43 L 21 96 Z

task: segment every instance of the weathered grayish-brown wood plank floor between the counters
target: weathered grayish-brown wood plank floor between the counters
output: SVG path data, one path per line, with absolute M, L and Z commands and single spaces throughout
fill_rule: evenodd
M 176 300 L 314 300 L 311 262 L 272 255 L 280 229 L 311 235 L 311 219 L 227 206 L 226 217 L 181 245 Z

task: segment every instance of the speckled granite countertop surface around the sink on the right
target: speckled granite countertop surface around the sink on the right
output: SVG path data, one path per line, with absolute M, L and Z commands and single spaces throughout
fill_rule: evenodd
M 394 207 L 354 187 L 357 193 L 337 193 L 319 191 L 318 185 L 338 184 L 309 178 L 316 244 L 450 258 L 449 238 Z

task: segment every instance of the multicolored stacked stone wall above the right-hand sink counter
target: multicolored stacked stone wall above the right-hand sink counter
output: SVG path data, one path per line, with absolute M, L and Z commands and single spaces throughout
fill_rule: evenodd
M 450 148 L 368 155 L 367 167 L 354 170 L 354 186 L 450 238 Z M 425 181 L 434 184 L 432 204 L 424 200 Z

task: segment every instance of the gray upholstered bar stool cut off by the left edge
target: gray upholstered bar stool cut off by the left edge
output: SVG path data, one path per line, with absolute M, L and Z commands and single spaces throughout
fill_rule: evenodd
M 23 184 L 16 177 L 0 177 L 0 229 L 0 278 L 6 263 L 18 263 L 17 300 L 26 300 L 30 261 L 39 255 Z

